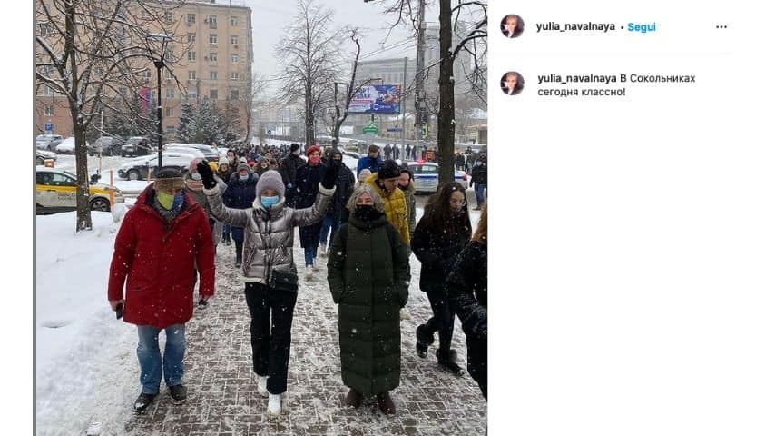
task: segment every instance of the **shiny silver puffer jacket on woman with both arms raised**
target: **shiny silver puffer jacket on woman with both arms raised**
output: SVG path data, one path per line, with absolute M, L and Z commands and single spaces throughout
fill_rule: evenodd
M 266 284 L 272 269 L 296 274 L 293 263 L 293 227 L 309 225 L 323 219 L 336 188 L 318 187 L 315 203 L 305 209 L 285 207 L 285 197 L 267 210 L 259 199 L 248 209 L 231 209 L 223 205 L 218 188 L 206 189 L 212 214 L 223 223 L 244 227 L 242 275 L 244 282 Z

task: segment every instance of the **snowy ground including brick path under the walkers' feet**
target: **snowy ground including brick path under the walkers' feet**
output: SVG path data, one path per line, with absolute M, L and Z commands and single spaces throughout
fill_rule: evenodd
M 471 218 L 476 226 L 478 213 Z M 150 410 L 134 415 L 132 401 L 140 391 L 136 329 L 115 320 L 105 294 L 119 224 L 111 213 L 93 213 L 93 222 L 93 232 L 76 234 L 74 213 L 36 218 L 38 434 L 84 434 L 90 426 L 103 435 L 484 434 L 486 401 L 476 382 L 467 373 L 458 379 L 439 369 L 433 357 L 437 342 L 427 359 L 415 352 L 415 329 L 431 311 L 418 289 L 420 264 L 414 256 L 402 319 L 401 384 L 392 392 L 397 416 L 382 415 L 373 399 L 358 411 L 341 405 L 348 388 L 340 376 L 337 307 L 323 267 L 311 282 L 299 280 L 289 390 L 280 419 L 268 420 L 267 400 L 251 375 L 244 285 L 232 266 L 233 245 L 222 244 L 215 298 L 187 323 L 187 402 L 172 405 L 162 386 Z M 296 247 L 297 266 L 303 265 L 298 234 Z M 465 367 L 459 322 L 453 348 Z

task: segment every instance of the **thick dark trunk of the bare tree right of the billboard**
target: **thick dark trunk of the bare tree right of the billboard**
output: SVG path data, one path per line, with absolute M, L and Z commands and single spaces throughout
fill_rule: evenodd
M 450 0 L 440 0 L 438 65 L 438 183 L 455 181 L 455 79 L 452 58 L 452 8 Z

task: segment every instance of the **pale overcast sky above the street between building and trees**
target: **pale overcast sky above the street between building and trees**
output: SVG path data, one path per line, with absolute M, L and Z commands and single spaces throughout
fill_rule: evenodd
M 221 0 L 222 2 L 223 0 Z M 280 72 L 280 67 L 274 57 L 274 46 L 285 35 L 284 29 L 291 19 L 298 14 L 295 0 L 270 1 L 270 0 L 236 0 L 244 1 L 244 4 L 252 9 L 253 25 L 253 70 L 258 69 L 260 74 L 271 78 Z M 220 2 L 220 3 L 221 3 Z M 235 2 L 236 3 L 236 2 Z M 329 7 L 334 11 L 334 25 L 357 26 L 363 37 L 361 38 L 361 59 L 375 60 L 379 57 L 414 57 L 417 53 L 417 45 L 414 40 L 407 41 L 411 36 L 411 29 L 401 26 L 394 30 L 385 46 L 397 45 L 390 50 L 380 48 L 387 35 L 387 28 L 395 21 L 395 16 L 382 13 L 383 5 L 378 2 L 363 3 L 363 0 L 316 0 L 318 5 Z M 438 6 L 432 5 L 426 8 L 427 23 L 438 22 Z M 400 44 L 404 42 L 405 44 Z M 353 46 L 352 44 L 346 46 Z

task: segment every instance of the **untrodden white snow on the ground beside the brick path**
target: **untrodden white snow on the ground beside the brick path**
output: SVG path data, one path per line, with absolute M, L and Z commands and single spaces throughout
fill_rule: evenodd
M 417 221 L 422 213 L 417 208 Z M 472 211 L 475 228 L 478 218 Z M 93 422 L 101 422 L 102 434 L 123 434 L 139 381 L 135 330 L 115 319 L 106 295 L 120 223 L 112 213 L 93 212 L 93 231 L 75 233 L 74 212 L 35 220 L 37 434 L 83 434 Z M 303 253 L 295 252 L 303 264 Z M 412 272 L 417 282 L 418 265 Z

